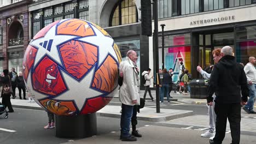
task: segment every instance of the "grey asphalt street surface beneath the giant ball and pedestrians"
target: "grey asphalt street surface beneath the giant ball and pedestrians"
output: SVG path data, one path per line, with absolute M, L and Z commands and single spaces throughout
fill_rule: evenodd
M 120 105 L 118 99 L 113 99 L 110 102 L 110 105 Z M 146 107 L 155 107 L 155 102 L 147 101 Z M 179 131 L 174 136 L 170 134 L 170 137 L 161 137 L 158 139 L 156 136 L 154 142 L 151 143 L 172 143 L 171 139 L 174 143 L 190 143 L 189 139 L 182 140 L 182 135 L 189 136 L 192 141 L 200 141 L 199 143 L 208 143 L 207 138 L 200 137 L 201 133 L 204 133 L 207 130 L 207 106 L 206 105 L 191 105 L 191 104 L 183 104 L 177 101 L 171 101 L 170 104 L 164 103 L 161 104 L 161 108 L 164 109 L 182 109 L 182 110 L 193 110 L 194 116 L 193 118 L 205 118 L 206 125 L 193 125 L 190 124 L 189 121 L 185 120 L 182 123 L 182 120 L 173 119 L 172 121 L 166 122 L 148 122 L 148 121 L 139 121 L 138 122 L 138 130 L 143 135 L 148 135 L 148 130 L 153 130 L 155 128 L 160 128 L 159 131 L 155 131 L 155 135 L 160 135 L 161 133 L 166 133 L 164 129 Z M 89 139 L 60 139 L 55 136 L 56 131 L 55 129 L 44 129 L 43 127 L 48 122 L 48 117 L 45 111 L 42 110 L 29 110 L 29 109 L 19 109 L 14 108 L 14 113 L 9 113 L 9 118 L 4 119 L 3 116 L 0 116 L 0 143 L 1 144 L 12 144 L 12 143 L 21 143 L 21 144 L 30 144 L 30 143 L 75 143 L 75 142 L 88 142 L 88 143 L 95 143 Z M 201 117 L 196 117 L 201 116 Z M 186 119 L 186 118 L 182 118 Z M 249 118 L 247 118 L 249 119 Z M 199 119 L 198 119 L 199 120 Z M 200 123 L 196 122 L 195 123 Z M 146 128 L 148 127 L 148 128 Z M 163 131 L 161 130 L 163 129 Z M 110 118 L 110 117 L 100 117 L 97 116 L 97 137 L 101 137 L 102 141 L 98 141 L 96 143 L 104 143 L 104 139 L 107 136 L 114 136 L 114 143 L 120 143 L 121 141 L 118 140 L 118 136 L 120 134 L 120 119 L 119 118 Z M 150 132 L 152 133 L 152 132 Z M 158 134 L 159 133 L 159 134 Z M 230 131 L 227 129 L 226 131 L 226 138 L 225 141 L 230 141 Z M 188 135 L 189 134 L 189 135 Z M 190 134 L 194 134 L 194 137 Z M 165 134 L 168 135 L 168 134 Z M 112 137 L 108 137 L 108 139 L 112 139 Z M 149 140 L 151 139 L 148 138 Z M 142 140 L 148 139 L 143 137 Z M 256 133 L 251 131 L 241 131 L 241 139 L 243 142 L 246 140 L 246 143 L 256 143 Z M 87 141 L 88 140 L 88 141 Z M 92 141 L 92 142 L 91 142 Z M 105 140 L 106 141 L 106 140 Z M 109 141 L 110 142 L 110 141 Z M 146 141 L 145 141 L 146 142 Z M 241 143 L 243 143 L 241 142 Z M 142 142 L 143 143 L 143 142 Z M 150 143 L 150 142 L 149 142 Z

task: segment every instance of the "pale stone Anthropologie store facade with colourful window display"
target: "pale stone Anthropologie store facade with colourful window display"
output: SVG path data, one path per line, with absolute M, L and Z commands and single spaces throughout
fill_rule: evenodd
M 159 0 L 159 65 L 174 69 L 178 80 L 179 65 L 199 77 L 197 65 L 203 69 L 213 64 L 212 51 L 229 45 L 236 61 L 246 64 L 256 56 L 256 2 L 251 0 Z M 152 23 L 154 25 L 154 22 Z M 161 24 L 164 27 L 162 49 Z M 153 39 L 149 38 L 149 57 L 153 57 Z M 163 52 L 162 52 L 163 50 Z M 153 59 L 149 59 L 153 67 Z

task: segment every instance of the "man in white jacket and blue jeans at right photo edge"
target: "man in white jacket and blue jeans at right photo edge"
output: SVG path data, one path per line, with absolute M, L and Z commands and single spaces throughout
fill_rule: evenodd
M 256 69 L 254 67 L 255 65 L 256 65 L 255 57 L 249 57 L 249 63 L 247 63 L 245 65 L 245 68 L 243 68 L 246 73 L 247 82 L 248 82 L 249 91 L 250 91 L 249 93 L 250 98 L 247 101 L 247 104 L 245 105 L 245 107 L 243 107 L 243 110 L 245 110 L 247 113 L 256 113 L 253 110 L 253 105 L 255 102 L 255 95 L 256 95 Z

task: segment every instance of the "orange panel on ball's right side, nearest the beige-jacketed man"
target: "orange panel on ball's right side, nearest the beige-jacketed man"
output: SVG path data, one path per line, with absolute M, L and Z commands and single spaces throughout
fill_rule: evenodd
M 112 92 L 117 87 L 118 64 L 111 56 L 108 56 L 100 68 L 96 71 L 92 87 L 101 91 Z

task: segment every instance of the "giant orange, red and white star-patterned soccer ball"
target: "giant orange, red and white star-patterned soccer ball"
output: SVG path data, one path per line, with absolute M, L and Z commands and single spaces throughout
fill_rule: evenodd
M 80 19 L 56 21 L 28 44 L 23 61 L 28 92 L 58 116 L 94 113 L 117 91 L 121 55 L 110 35 Z

